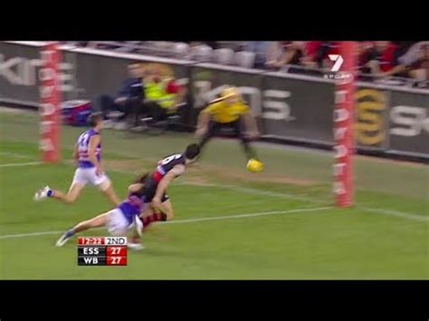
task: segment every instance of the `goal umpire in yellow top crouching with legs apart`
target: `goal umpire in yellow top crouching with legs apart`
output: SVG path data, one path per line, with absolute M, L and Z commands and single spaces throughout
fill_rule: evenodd
M 243 126 L 247 133 L 243 130 Z M 259 136 L 256 121 L 249 106 L 234 87 L 225 89 L 219 99 L 213 100 L 201 111 L 195 132 L 201 148 L 223 127 L 234 130 L 234 135 L 242 142 L 248 161 L 259 163 L 262 169 L 262 163 L 250 145 L 250 141 Z

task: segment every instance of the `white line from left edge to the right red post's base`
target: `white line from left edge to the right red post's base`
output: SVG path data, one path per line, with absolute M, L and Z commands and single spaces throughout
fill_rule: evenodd
M 333 207 L 332 206 L 309 207 L 309 208 L 301 208 L 301 209 L 287 210 L 287 211 L 253 212 L 253 213 L 244 213 L 244 214 L 236 214 L 236 215 L 202 217 L 202 218 L 195 218 L 195 219 L 176 220 L 176 221 L 159 222 L 159 223 L 160 224 L 183 224 L 183 223 L 189 223 L 189 222 L 234 220 L 234 219 L 242 219 L 242 218 L 247 218 L 247 217 L 257 217 L 257 216 L 276 215 L 276 214 L 288 214 L 288 213 L 297 213 L 297 212 L 319 212 L 319 211 L 329 210 L 331 208 L 333 208 Z M 93 230 L 96 230 L 96 229 L 93 229 Z M 64 231 L 36 231 L 33 233 L 0 235 L 0 240 L 24 238 L 24 237 L 29 237 L 29 236 L 60 234 L 62 232 L 64 232 Z

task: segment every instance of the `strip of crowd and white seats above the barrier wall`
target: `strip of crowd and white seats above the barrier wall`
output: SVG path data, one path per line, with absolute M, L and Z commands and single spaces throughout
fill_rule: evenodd
M 73 42 L 119 52 L 154 54 L 310 75 L 329 71 L 338 42 Z M 359 80 L 429 86 L 429 42 L 357 42 Z

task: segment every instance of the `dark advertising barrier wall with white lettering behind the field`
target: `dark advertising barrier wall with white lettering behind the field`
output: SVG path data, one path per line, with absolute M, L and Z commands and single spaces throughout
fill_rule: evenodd
M 0 102 L 37 107 L 40 47 L 0 42 Z M 129 61 L 157 63 L 186 85 L 199 110 L 225 85 L 240 87 L 257 116 L 262 137 L 333 146 L 333 80 L 116 53 L 88 48 L 62 50 L 63 100 L 115 94 Z M 355 109 L 358 150 L 429 159 L 429 90 L 358 82 Z

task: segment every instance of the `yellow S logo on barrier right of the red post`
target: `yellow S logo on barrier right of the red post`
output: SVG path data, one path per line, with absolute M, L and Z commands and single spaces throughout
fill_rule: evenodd
M 376 145 L 385 139 L 382 111 L 386 109 L 385 94 L 380 90 L 358 90 L 356 94 L 355 131 L 358 143 Z

